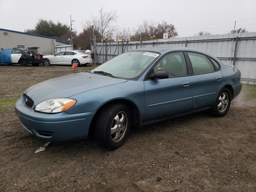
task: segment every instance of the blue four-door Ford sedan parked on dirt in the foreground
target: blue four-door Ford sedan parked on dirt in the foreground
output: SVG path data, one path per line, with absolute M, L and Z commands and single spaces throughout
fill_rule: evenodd
M 30 87 L 16 114 L 31 134 L 48 141 L 85 139 L 110 149 L 132 127 L 209 110 L 224 116 L 241 91 L 241 73 L 190 48 L 153 47 L 125 52 L 90 72 Z

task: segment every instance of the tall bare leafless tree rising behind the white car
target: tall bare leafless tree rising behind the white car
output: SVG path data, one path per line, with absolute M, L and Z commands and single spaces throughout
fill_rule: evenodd
M 101 37 L 110 39 L 116 31 L 116 26 L 112 26 L 112 23 L 115 22 L 117 18 L 116 11 L 110 10 L 109 12 L 104 12 L 103 8 L 100 8 L 99 16 L 91 15 L 91 18 L 86 20 L 84 28 L 94 26 Z

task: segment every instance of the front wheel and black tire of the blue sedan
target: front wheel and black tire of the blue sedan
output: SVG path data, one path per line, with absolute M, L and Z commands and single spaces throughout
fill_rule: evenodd
M 95 137 L 106 147 L 114 150 L 124 144 L 131 128 L 131 112 L 122 103 L 103 108 L 96 120 Z

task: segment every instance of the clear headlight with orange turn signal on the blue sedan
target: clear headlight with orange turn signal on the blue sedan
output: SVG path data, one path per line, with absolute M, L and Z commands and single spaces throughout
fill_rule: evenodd
M 35 111 L 44 113 L 59 113 L 70 109 L 76 100 L 69 98 L 56 98 L 43 101 L 36 105 Z

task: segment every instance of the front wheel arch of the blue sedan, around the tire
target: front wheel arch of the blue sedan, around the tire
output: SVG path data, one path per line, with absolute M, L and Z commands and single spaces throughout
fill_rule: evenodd
M 130 110 L 131 110 L 131 113 L 132 113 L 132 126 L 133 127 L 140 127 L 140 124 L 141 124 L 141 120 L 140 120 L 140 111 L 138 109 L 138 106 L 132 102 L 131 100 L 128 100 L 128 99 L 124 99 L 124 98 L 118 98 L 118 99 L 114 99 L 114 100 L 109 100 L 107 102 L 105 102 L 104 104 L 102 104 L 98 109 L 97 109 L 97 112 L 94 114 L 93 118 L 92 118 L 92 121 L 91 121 L 91 124 L 90 124 L 90 128 L 89 128 L 89 133 L 91 134 L 93 131 L 93 127 L 95 126 L 95 122 L 98 118 L 98 115 L 100 113 L 100 111 L 105 108 L 105 107 L 108 107 L 112 104 L 115 104 L 115 103 L 124 103 L 126 104 Z

